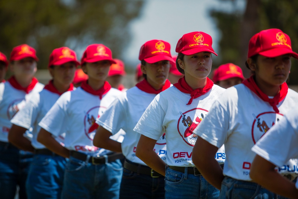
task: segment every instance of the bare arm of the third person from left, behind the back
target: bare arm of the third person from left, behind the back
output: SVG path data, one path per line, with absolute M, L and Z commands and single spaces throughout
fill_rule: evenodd
M 59 142 L 52 137 L 52 134 L 41 128 L 37 136 L 37 141 L 46 146 L 52 152 L 61 155 L 64 158 L 69 158 L 69 150 L 63 147 Z

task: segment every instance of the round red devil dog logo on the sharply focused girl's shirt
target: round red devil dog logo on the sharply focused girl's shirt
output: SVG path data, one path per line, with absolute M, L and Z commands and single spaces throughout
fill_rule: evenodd
M 194 108 L 184 113 L 180 112 L 181 116 L 178 120 L 177 128 L 182 139 L 188 145 L 195 145 L 197 135 L 193 134 L 193 129 L 200 124 L 207 113 L 207 110 L 201 108 Z

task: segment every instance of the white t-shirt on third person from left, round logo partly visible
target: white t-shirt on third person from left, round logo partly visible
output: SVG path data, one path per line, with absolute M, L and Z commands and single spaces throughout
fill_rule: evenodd
M 111 88 L 100 100 L 99 96 L 92 95 L 78 87 L 74 91 L 63 93 L 53 107 L 39 123 L 41 128 L 55 137 L 65 132 L 64 145 L 69 150 L 91 155 L 106 155 L 111 153 L 106 149 L 93 145 L 96 129 L 89 132 L 97 117 L 101 116 L 117 95 L 122 92 Z M 120 133 L 111 138 L 117 140 Z

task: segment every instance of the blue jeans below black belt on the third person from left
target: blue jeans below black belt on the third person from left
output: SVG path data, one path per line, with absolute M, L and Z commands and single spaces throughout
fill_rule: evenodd
M 94 165 L 70 156 L 66 163 L 62 198 L 119 198 L 122 172 L 120 160 Z

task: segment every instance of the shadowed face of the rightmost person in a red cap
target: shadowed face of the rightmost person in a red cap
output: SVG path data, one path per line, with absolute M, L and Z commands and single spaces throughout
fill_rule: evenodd
M 249 59 L 248 63 L 250 63 Z M 291 55 L 286 54 L 274 58 L 259 55 L 257 62 L 249 64 L 249 66 L 252 71 L 255 71 L 257 83 L 279 86 L 288 79 L 291 69 Z

